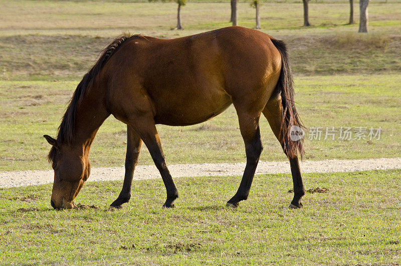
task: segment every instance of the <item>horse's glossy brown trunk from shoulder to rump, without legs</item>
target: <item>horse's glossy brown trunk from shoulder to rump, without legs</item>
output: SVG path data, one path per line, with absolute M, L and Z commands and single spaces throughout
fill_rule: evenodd
M 264 105 L 281 68 L 270 38 L 242 27 L 176 39 L 136 36 L 108 62 L 109 90 L 149 108 L 136 102 L 145 98 L 156 122 L 169 125 L 203 122 L 239 99 Z

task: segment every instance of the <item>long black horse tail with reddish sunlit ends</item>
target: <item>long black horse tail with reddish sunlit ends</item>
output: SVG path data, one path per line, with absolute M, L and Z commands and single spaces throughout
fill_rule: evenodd
M 283 134 L 283 150 L 289 158 L 294 158 L 299 154 L 303 159 L 303 135 L 302 138 L 291 138 L 294 131 L 304 130 L 301 119 L 299 118 L 294 101 L 294 81 L 291 73 L 290 59 L 288 57 L 287 48 L 284 42 L 271 39 L 274 46 L 281 55 L 281 71 L 280 77 L 276 85 L 276 91 L 281 95 L 281 104 L 283 107 L 283 117 L 281 122 L 281 132 Z M 294 126 L 298 126 L 296 128 Z M 304 132 L 304 131 L 303 131 Z

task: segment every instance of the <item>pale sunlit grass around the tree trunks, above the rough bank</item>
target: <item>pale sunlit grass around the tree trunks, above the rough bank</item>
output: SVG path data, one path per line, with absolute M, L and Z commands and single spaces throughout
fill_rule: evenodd
M 213 1 L 212 1 L 213 2 Z M 187 35 L 194 32 L 230 26 L 230 3 L 221 1 L 188 1 L 181 10 L 184 31 L 173 31 L 176 23 L 175 3 L 146 3 L 146 1 L 2 1 L 3 15 L 0 32 L 10 35 L 90 35 L 114 37 L 121 31 L 134 30 L 144 34 Z M 344 26 L 348 22 L 347 1 L 311 1 L 310 22 L 312 28 L 303 28 L 302 4 L 299 1 L 268 1 L 260 7 L 261 26 L 272 33 L 293 35 L 330 34 L 328 29 L 357 30 L 357 25 Z M 355 2 L 354 17 L 359 18 Z M 399 33 L 401 24 L 398 1 L 372 0 L 369 4 L 369 24 L 372 32 Z M 24 20 L 16 20 L 23 17 Z M 255 9 L 248 2 L 238 5 L 240 26 L 255 26 Z M 398 29 L 397 29 L 398 28 Z M 344 29 L 340 29 L 343 31 Z

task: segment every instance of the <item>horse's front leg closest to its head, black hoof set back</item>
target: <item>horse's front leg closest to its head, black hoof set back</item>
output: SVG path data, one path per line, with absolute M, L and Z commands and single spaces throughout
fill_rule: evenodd
M 138 163 L 139 151 L 142 140 L 135 130 L 127 125 L 127 154 L 125 156 L 125 176 L 124 183 L 118 198 L 111 203 L 112 208 L 121 208 L 121 205 L 128 202 L 131 198 L 132 178 L 134 176 L 135 166 Z

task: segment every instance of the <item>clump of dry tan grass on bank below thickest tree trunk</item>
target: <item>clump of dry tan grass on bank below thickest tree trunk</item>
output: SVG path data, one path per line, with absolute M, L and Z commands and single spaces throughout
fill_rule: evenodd
M 345 32 L 336 34 L 336 46 L 340 49 L 387 49 L 390 38 L 383 33 L 360 34 Z

